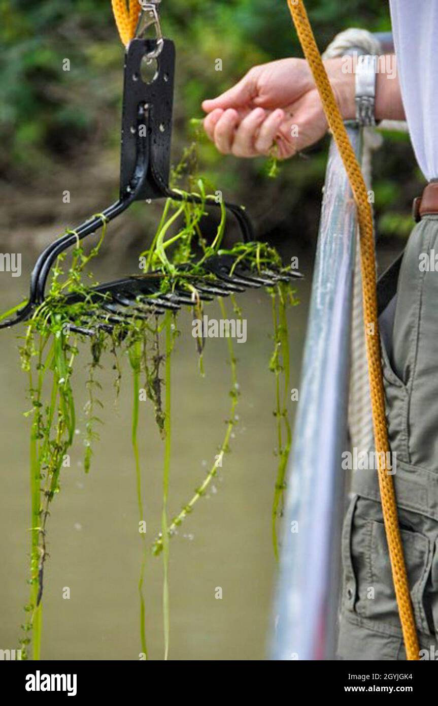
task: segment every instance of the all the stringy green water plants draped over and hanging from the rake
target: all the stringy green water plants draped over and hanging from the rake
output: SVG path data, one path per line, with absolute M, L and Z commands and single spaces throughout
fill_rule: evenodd
M 150 247 L 140 254 L 143 272 L 159 275 L 159 292 L 185 290 L 190 294 L 195 318 L 202 318 L 203 306 L 194 282 L 203 277 L 214 284 L 216 275 L 204 268 L 205 261 L 212 255 L 231 255 L 234 263 L 231 274 L 239 263 L 262 273 L 269 267 L 281 271 L 278 253 L 267 244 L 259 242 L 237 243 L 224 249 L 223 239 L 226 225 L 226 211 L 221 204 L 219 223 L 216 234 L 209 244 L 202 233 L 205 210 L 209 202 L 217 197 L 204 179 L 193 172 L 197 164 L 196 142 L 183 153 L 183 158 L 174 169 L 174 189 L 183 196 L 183 201 L 167 199 L 161 220 Z M 185 177 L 187 191 L 181 188 Z M 189 193 L 200 197 L 199 203 L 188 201 Z M 200 486 L 195 489 L 190 500 L 181 511 L 169 520 L 169 484 L 171 477 L 171 358 L 178 336 L 177 313 L 166 313 L 159 318 L 154 313 L 138 316 L 135 311 L 130 316 L 111 319 L 105 314 L 99 303 L 90 297 L 95 279 L 87 268 L 97 256 L 104 242 L 106 224 L 90 251 L 78 240 L 71 252 L 70 260 L 63 253 L 51 273 L 49 291 L 44 302 L 35 309 L 28 322 L 20 356 L 23 370 L 28 374 L 30 409 L 26 416 L 31 419 L 30 428 L 30 599 L 25 606 L 26 619 L 23 623 L 23 637 L 20 645 L 23 657 L 39 659 L 42 634 L 42 596 L 44 587 L 44 566 L 47 561 L 47 529 L 51 503 L 59 493 L 62 480 L 62 468 L 69 465 L 69 451 L 75 439 L 76 410 L 72 389 L 75 361 L 83 349 L 90 348 L 90 362 L 87 365 L 87 402 L 83 410 L 85 415 L 84 469 L 88 473 L 92 465 L 92 448 L 98 439 L 97 427 L 101 423 L 99 408 L 99 370 L 102 366 L 102 354 L 112 356 L 115 371 L 114 387 L 116 397 L 121 385 L 121 357 L 128 358 L 132 374 L 133 414 L 131 443 L 135 469 L 135 487 L 138 504 L 138 522 L 142 548 L 142 560 L 138 580 L 140 603 L 140 644 L 144 658 L 148 658 L 145 602 L 145 568 L 148 556 L 162 555 L 163 562 L 163 626 L 164 659 L 169 656 L 169 544 L 178 527 L 193 512 L 196 503 L 205 495 L 212 480 L 222 466 L 224 456 L 229 453 L 233 427 L 237 422 L 236 406 L 239 388 L 236 378 L 237 360 L 233 352 L 231 337 L 227 337 L 229 365 L 231 369 L 230 410 L 226 420 L 224 439 L 219 446 L 219 453 L 214 464 L 208 470 Z M 155 276 L 155 275 L 154 275 Z M 268 287 L 272 296 L 274 323 L 274 353 L 270 369 L 276 380 L 276 425 L 278 436 L 277 453 L 279 466 L 273 505 L 274 549 L 277 552 L 276 520 L 281 514 L 285 472 L 291 445 L 291 430 L 287 419 L 287 400 L 289 387 L 289 352 L 286 307 L 295 304 L 290 282 L 279 282 L 275 287 Z M 67 295 L 81 294 L 75 304 L 68 302 Z M 151 295 L 153 298 L 154 295 Z M 236 316 L 241 317 L 241 309 L 236 299 L 231 297 Z M 226 320 L 226 308 L 219 298 L 221 316 Z M 151 310 L 152 311 L 152 310 Z M 84 316 L 87 319 L 87 334 L 83 329 Z M 204 374 L 203 354 L 205 341 L 196 340 L 196 353 L 200 372 Z M 281 383 L 281 376 L 283 382 Z M 144 381 L 144 388 L 140 385 Z M 164 444 L 163 480 L 162 480 L 162 522 L 160 532 L 152 544 L 146 541 L 145 527 L 145 486 L 142 479 L 142 467 L 138 448 L 139 400 L 140 392 L 145 395 L 154 410 L 157 429 Z

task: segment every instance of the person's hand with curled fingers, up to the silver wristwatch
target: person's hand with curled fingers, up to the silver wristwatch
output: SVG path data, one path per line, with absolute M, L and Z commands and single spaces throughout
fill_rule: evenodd
M 340 59 L 326 61 L 325 66 L 343 117 L 353 117 L 352 74 L 341 71 Z M 286 159 L 327 132 L 320 97 L 304 59 L 254 66 L 233 88 L 205 100 L 202 108 L 208 113 L 207 136 L 219 152 L 236 157 L 268 155 L 276 145 L 276 156 Z

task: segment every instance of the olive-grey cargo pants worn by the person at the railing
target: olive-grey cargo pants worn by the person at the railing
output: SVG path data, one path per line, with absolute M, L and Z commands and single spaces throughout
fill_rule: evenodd
M 382 327 L 389 442 L 396 452 L 393 478 L 420 650 L 425 650 L 420 658 L 438 659 L 438 216 L 424 217 L 413 229 L 393 304 L 394 311 L 386 312 L 389 325 Z M 377 472 L 355 471 L 352 489 L 342 538 L 339 658 L 406 659 Z

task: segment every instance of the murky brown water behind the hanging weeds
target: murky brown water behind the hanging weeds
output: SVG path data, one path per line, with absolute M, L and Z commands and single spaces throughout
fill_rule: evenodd
M 301 262 L 300 262 L 301 265 Z M 1 310 L 27 290 L 21 277 L 0 273 Z M 309 267 L 305 266 L 309 271 Z M 300 306 L 288 313 L 291 387 L 298 386 L 309 281 L 299 285 Z M 171 540 L 170 659 L 264 659 L 271 614 L 275 563 L 271 508 L 276 475 L 271 301 L 264 292 L 240 297 L 248 340 L 236 344 L 241 397 L 239 417 L 219 477 Z M 217 304 L 210 317 L 220 318 Z M 200 485 L 224 437 L 229 412 L 230 371 L 226 340 L 208 340 L 205 378 L 197 371 L 191 313 L 178 319 L 172 369 L 172 462 L 169 515 Z M 30 421 L 26 376 L 20 371 L 17 334 L 0 334 L 0 648 L 17 646 L 28 601 Z M 138 575 L 141 546 L 130 447 L 131 378 L 123 380 L 114 405 L 111 361 L 101 371 L 104 424 L 99 428 L 90 474 L 83 471 L 82 408 L 88 352 L 76 361 L 73 389 L 78 433 L 71 467 L 63 469 L 61 492 L 51 506 L 49 559 L 45 570 L 42 659 L 138 659 Z M 289 403 L 291 418 L 293 402 Z M 147 539 L 160 526 L 163 444 L 149 403 L 140 403 L 140 454 Z M 70 588 L 70 599 L 63 589 Z M 215 598 L 217 587 L 222 598 Z M 150 556 L 145 581 L 150 658 L 163 657 L 162 558 Z

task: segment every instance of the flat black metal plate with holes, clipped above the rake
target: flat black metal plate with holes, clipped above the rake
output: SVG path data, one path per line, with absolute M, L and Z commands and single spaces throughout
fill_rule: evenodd
M 121 140 L 121 196 L 126 193 L 135 172 L 138 150 L 138 109 L 147 105 L 145 124 L 147 131 L 142 139 L 147 140 L 150 164 L 153 164 L 154 179 L 145 181 L 139 191 L 138 201 L 162 198 L 162 189 L 157 186 L 169 184 L 170 150 L 172 133 L 172 111 L 174 102 L 175 46 L 164 40 L 157 59 L 150 54 L 157 46 L 155 40 L 133 40 L 125 56 L 125 80 L 123 88 L 122 140 Z M 149 54 L 149 56 L 148 56 Z M 148 74 L 153 80 L 145 83 L 142 66 L 152 69 Z M 134 129 L 132 129 L 134 128 Z

